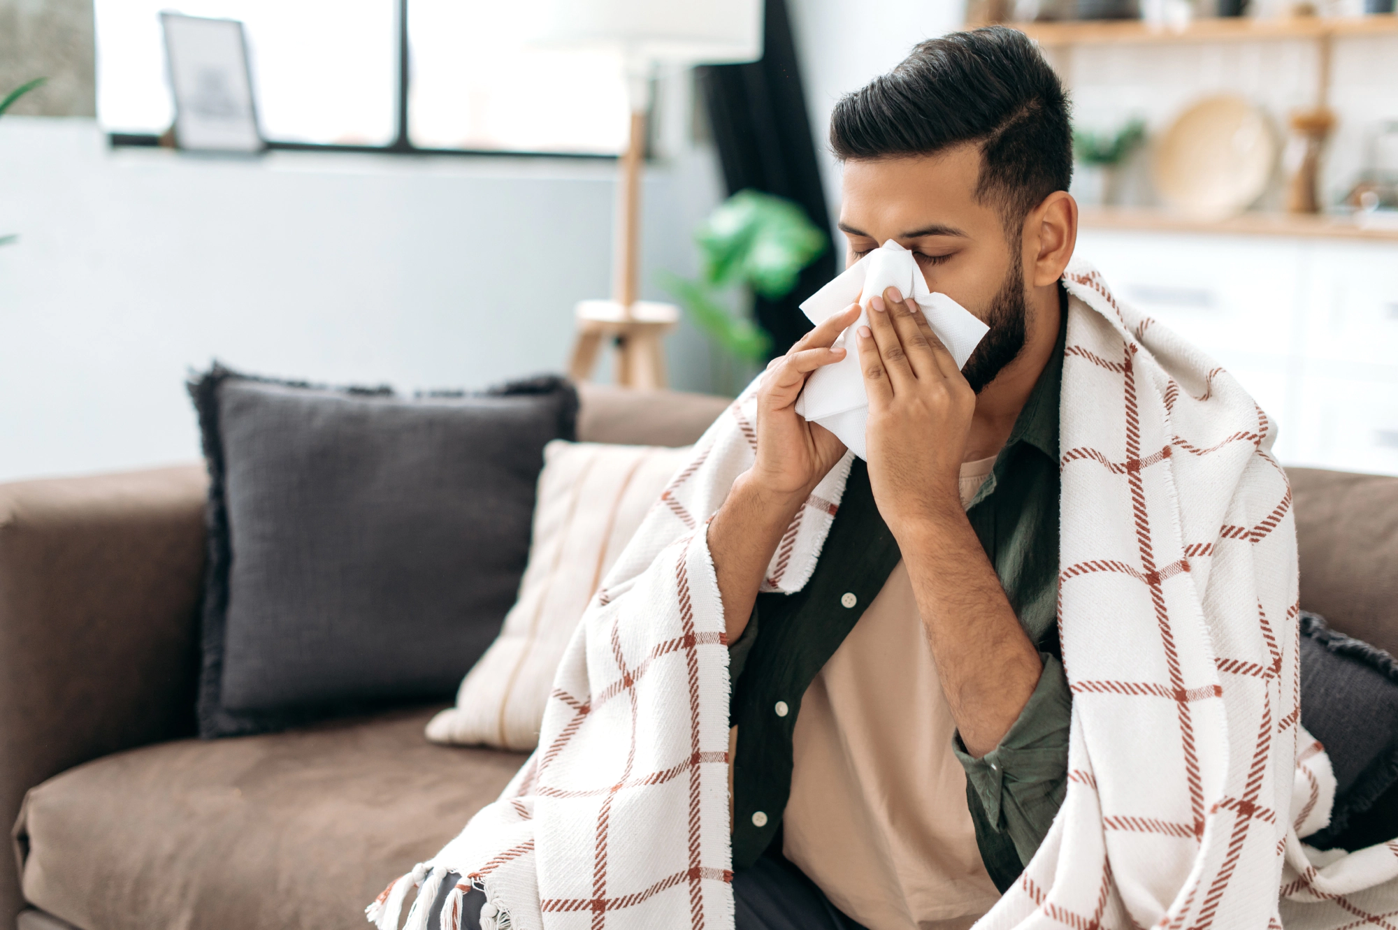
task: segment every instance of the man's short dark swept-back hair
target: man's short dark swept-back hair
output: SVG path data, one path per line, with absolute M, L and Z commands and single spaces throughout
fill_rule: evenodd
M 1068 95 L 1018 29 L 987 27 L 917 45 L 896 68 L 846 94 L 830 116 L 843 161 L 934 155 L 976 142 L 976 198 L 1016 235 L 1030 209 L 1072 180 Z

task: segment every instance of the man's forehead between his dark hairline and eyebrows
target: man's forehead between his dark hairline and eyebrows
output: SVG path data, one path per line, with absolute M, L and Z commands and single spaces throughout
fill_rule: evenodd
M 976 145 L 931 156 L 849 161 L 840 225 L 853 233 L 914 237 L 935 235 L 921 232 L 935 226 L 965 230 L 998 222 L 994 209 L 976 200 L 979 180 Z

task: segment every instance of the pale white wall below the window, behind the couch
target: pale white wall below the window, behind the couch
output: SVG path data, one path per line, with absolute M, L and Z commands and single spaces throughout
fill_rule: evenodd
M 678 108 L 672 108 L 678 109 Z M 614 162 L 112 151 L 92 120 L 0 120 L 0 480 L 199 457 L 183 380 L 247 371 L 400 388 L 561 370 L 610 293 Z M 684 148 L 644 189 L 644 296 L 693 271 L 721 195 Z M 670 338 L 674 384 L 707 345 Z

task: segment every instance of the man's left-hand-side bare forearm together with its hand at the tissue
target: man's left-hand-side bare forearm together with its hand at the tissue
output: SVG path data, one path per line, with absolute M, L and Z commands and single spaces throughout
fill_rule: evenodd
M 734 482 L 707 531 L 728 642 L 748 626 L 762 574 L 781 533 L 811 490 L 844 455 L 844 444 L 833 433 L 795 412 L 795 398 L 811 371 L 844 357 L 844 349 L 830 345 L 858 316 L 856 304 L 828 318 L 790 352 L 773 359 L 762 377 L 758 461 Z

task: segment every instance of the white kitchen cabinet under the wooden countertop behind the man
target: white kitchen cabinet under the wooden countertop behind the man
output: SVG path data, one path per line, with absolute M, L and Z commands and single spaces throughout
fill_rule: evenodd
M 1282 462 L 1398 475 L 1398 243 L 1085 229 L 1078 253 L 1253 394 Z

